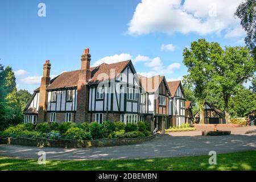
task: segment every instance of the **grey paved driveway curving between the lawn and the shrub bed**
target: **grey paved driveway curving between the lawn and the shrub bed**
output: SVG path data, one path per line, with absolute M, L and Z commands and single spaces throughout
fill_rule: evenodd
M 88 159 L 144 159 L 174 156 L 208 155 L 256 150 L 256 127 L 229 129 L 232 135 L 203 137 L 199 131 L 158 135 L 142 144 L 97 148 L 38 148 L 0 145 L 0 156 L 38 159 L 38 152 L 45 151 L 47 159 L 88 160 Z

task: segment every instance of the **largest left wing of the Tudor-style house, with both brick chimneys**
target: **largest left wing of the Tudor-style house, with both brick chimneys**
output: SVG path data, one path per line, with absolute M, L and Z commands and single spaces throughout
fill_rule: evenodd
M 49 77 L 43 65 L 41 85 L 24 109 L 25 123 L 138 122 L 141 87 L 130 60 L 90 67 L 89 49 L 81 56 L 81 69 Z

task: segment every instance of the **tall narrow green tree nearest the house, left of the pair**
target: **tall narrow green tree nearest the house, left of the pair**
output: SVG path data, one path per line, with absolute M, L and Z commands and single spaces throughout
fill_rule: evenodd
M 193 91 L 200 107 L 200 123 L 204 123 L 204 102 L 208 95 L 208 83 L 213 70 L 210 55 L 212 48 L 216 46 L 216 43 L 199 39 L 191 43 L 191 48 L 185 48 L 183 51 L 183 63 L 189 72 L 187 77 L 193 84 Z

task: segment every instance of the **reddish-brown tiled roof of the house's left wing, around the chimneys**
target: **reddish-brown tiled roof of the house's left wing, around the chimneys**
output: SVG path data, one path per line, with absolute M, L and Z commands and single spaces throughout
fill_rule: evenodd
M 102 81 L 102 77 L 106 75 L 109 78 L 116 77 L 119 73 L 125 69 L 127 64 L 129 64 L 131 60 L 121 61 L 113 64 L 102 63 L 97 67 L 91 67 L 90 71 L 92 72 L 91 79 L 89 80 L 89 84 L 95 84 Z M 110 72 L 113 71 L 113 74 Z M 51 84 L 47 87 L 48 90 L 51 89 L 61 89 L 61 88 L 70 88 L 77 86 L 77 82 L 79 80 L 79 73 L 81 70 L 71 71 L 71 72 L 63 72 L 59 76 L 53 78 L 51 80 Z M 100 77 L 102 76 L 102 77 Z M 35 90 L 39 91 L 40 88 Z

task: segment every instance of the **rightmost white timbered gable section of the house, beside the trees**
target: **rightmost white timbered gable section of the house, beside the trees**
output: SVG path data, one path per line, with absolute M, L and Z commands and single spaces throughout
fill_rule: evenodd
M 181 81 L 170 81 L 168 86 L 171 91 L 171 99 L 169 102 L 169 119 L 170 127 L 180 126 L 185 123 L 185 94 L 181 85 Z M 168 127 L 167 125 L 167 127 Z

